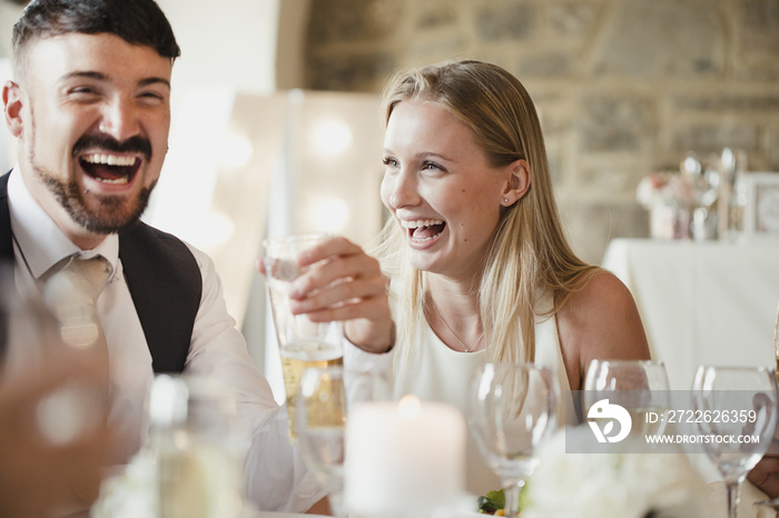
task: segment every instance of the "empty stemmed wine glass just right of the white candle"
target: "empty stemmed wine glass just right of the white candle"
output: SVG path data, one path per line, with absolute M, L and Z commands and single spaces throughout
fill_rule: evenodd
M 469 425 L 501 479 L 505 516 L 515 518 L 520 490 L 538 464 L 535 448 L 556 427 L 558 386 L 543 367 L 485 363 L 471 381 Z

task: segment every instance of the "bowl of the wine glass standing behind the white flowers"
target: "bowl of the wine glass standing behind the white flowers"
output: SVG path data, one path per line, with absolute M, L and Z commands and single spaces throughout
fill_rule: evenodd
M 630 414 L 630 437 L 640 439 L 662 435 L 665 419 L 659 416 L 664 416 L 670 405 L 665 366 L 650 360 L 592 360 L 584 377 L 584 417 L 596 420 L 590 409 L 603 400 L 608 400 L 608 405 L 619 405 Z M 590 420 L 590 426 L 598 424 Z M 622 430 L 618 435 L 620 432 Z M 614 437 L 605 439 L 613 441 Z

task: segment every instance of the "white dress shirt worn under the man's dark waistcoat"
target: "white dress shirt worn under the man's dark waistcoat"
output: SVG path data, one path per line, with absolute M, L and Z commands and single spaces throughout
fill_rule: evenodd
M 80 250 L 57 227 L 27 190 L 21 173 L 11 173 L 8 201 L 13 232 L 14 279 L 22 292 L 38 290 L 37 279 L 70 255 L 103 256 L 114 268 L 97 300 L 109 349 L 111 408 L 109 421 L 120 435 L 118 462 L 127 462 L 148 430 L 146 405 L 154 379 L 151 355 L 125 281 L 119 238 L 108 236 L 97 248 Z M 185 372 L 215 377 L 231 387 L 241 419 L 252 430 L 247 484 L 252 500 L 265 510 L 303 511 L 325 494 L 308 474 L 287 439 L 286 408 L 275 402 L 270 387 L 246 350 L 246 342 L 227 312 L 214 262 L 187 245 L 203 276 L 203 296 L 193 329 Z M 45 340 L 9 343 L 6 367 L 30 367 L 46 355 Z

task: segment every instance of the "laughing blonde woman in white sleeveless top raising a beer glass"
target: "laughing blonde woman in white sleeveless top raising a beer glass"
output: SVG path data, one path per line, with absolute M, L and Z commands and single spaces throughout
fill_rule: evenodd
M 347 338 L 373 352 L 347 361 L 392 363 L 397 395 L 464 409 L 471 372 L 485 361 L 550 367 L 564 391 L 582 388 L 594 358 L 649 358 L 628 289 L 566 242 L 539 119 L 516 78 L 445 62 L 398 74 L 384 98 L 381 196 L 392 217 L 378 262 L 332 241 L 305 259 L 333 261 L 299 280 L 295 305 L 347 320 Z M 304 295 L 338 277 L 353 282 Z M 470 457 L 469 489 L 499 487 Z

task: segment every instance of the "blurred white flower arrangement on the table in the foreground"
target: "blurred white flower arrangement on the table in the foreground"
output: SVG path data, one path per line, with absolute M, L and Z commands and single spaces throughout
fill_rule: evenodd
M 708 488 L 684 454 L 566 454 L 565 434 L 590 430 L 568 428 L 539 449 L 522 518 L 711 516 Z

